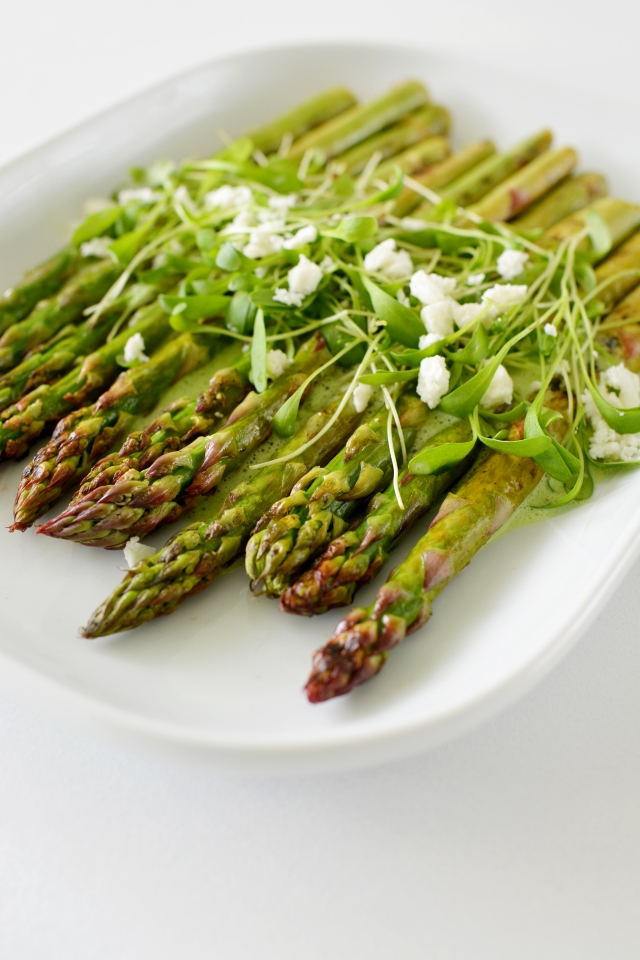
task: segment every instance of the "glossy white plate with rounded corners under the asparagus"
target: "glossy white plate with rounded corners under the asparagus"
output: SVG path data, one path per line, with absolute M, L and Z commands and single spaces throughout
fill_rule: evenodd
M 551 125 L 579 147 L 583 168 L 606 171 L 615 191 L 638 197 L 640 135 L 625 123 L 624 103 L 594 104 L 411 48 L 269 50 L 171 80 L 0 171 L 0 280 L 8 285 L 56 249 L 82 200 L 122 181 L 131 164 L 211 152 L 217 129 L 238 133 L 333 83 L 371 97 L 409 76 L 452 109 L 458 143 L 490 135 L 508 144 Z M 0 478 L 2 681 L 242 770 L 380 762 L 468 730 L 557 662 L 640 543 L 640 476 L 616 477 L 580 509 L 489 544 L 378 678 L 312 707 L 301 692 L 310 655 L 339 613 L 284 616 L 250 597 L 241 571 L 167 619 L 79 640 L 78 626 L 119 582 L 122 555 L 7 533 L 20 469 L 3 467 Z

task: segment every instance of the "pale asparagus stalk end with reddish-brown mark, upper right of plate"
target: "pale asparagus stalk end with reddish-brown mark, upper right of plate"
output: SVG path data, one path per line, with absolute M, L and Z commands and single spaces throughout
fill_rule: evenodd
M 577 162 L 571 147 L 547 150 L 468 209 L 485 220 L 511 220 L 566 177 Z

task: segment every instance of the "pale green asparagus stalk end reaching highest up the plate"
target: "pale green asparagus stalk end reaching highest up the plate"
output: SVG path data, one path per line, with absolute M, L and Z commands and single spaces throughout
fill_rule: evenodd
M 421 83 L 407 80 L 377 100 L 352 107 L 318 130 L 300 137 L 289 151 L 289 157 L 301 160 L 307 150 L 313 149 L 318 160 L 326 163 L 395 123 L 405 114 L 424 106 L 428 100 L 427 91 Z

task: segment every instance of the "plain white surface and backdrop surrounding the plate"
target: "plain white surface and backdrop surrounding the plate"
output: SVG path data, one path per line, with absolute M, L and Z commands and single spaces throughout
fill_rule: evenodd
M 0 161 L 208 58 L 304 39 L 640 99 L 636 3 L 5 0 L 2 28 Z M 231 777 L 0 700 L 1 960 L 636 960 L 639 583 L 640 563 L 507 713 L 365 772 Z

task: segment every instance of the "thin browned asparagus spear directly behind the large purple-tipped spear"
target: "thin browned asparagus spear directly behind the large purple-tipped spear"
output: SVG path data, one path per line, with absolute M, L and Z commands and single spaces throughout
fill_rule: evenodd
M 130 433 L 119 451 L 103 457 L 89 471 L 71 502 L 82 500 L 98 487 L 118 483 L 128 470 L 144 470 L 163 453 L 208 433 L 243 399 L 249 386 L 250 366 L 250 355 L 244 353 L 232 367 L 217 370 L 197 399 L 176 400 L 144 430 Z

